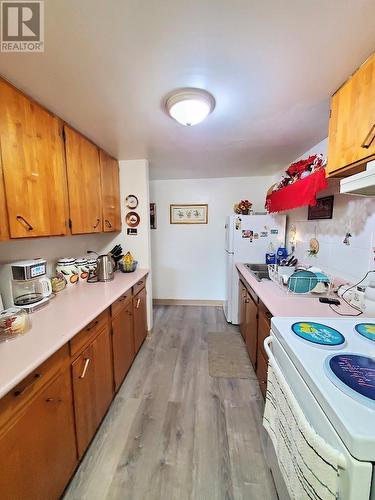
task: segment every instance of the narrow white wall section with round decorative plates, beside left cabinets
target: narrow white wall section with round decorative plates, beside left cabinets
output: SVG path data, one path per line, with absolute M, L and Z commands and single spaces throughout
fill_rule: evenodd
M 139 205 L 135 211 L 140 216 L 136 236 L 127 235 L 125 217 L 130 210 L 125 207 L 125 199 L 129 194 L 137 196 Z M 151 276 L 151 241 L 150 241 L 150 196 L 149 196 L 149 164 L 147 160 L 120 161 L 120 200 L 122 231 L 107 245 L 110 250 L 116 243 L 121 243 L 123 251 L 131 252 L 138 261 L 138 267 L 150 269 L 147 279 L 147 323 L 152 328 L 152 276 Z

